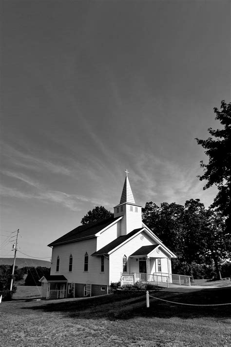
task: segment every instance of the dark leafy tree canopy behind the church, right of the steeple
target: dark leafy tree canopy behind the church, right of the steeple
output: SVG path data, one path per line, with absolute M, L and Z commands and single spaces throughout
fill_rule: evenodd
M 229 256 L 229 237 L 221 213 L 206 209 L 199 199 L 190 199 L 184 206 L 146 203 L 142 217 L 176 254 L 173 271 L 193 276 L 195 264 L 215 265 L 220 278 L 220 264 Z

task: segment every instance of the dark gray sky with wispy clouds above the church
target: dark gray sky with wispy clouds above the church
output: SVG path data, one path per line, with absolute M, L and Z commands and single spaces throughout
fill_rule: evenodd
M 136 204 L 208 207 L 195 138 L 230 102 L 230 1 L 5 0 L 1 5 L 0 257 L 49 243 L 125 179 Z M 13 236 L 13 238 L 12 238 Z

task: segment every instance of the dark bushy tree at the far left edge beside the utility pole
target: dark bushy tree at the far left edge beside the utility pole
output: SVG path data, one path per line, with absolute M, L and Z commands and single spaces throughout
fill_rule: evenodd
M 0 295 L 2 295 L 2 301 L 11 300 L 12 294 L 17 290 L 16 286 L 12 286 L 10 291 L 10 283 L 12 279 L 12 266 L 0 265 Z

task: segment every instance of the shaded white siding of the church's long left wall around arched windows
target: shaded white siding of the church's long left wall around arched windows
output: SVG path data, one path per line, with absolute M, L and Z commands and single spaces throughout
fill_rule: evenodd
M 59 245 L 53 248 L 51 275 L 64 275 L 68 282 L 107 285 L 109 261 L 104 260 L 104 272 L 101 273 L 101 257 L 92 257 L 96 251 L 96 238 L 92 240 Z M 84 271 L 84 256 L 88 253 L 88 271 Z M 72 254 L 72 271 L 69 272 L 69 257 Z M 59 271 L 56 271 L 57 257 L 59 256 Z

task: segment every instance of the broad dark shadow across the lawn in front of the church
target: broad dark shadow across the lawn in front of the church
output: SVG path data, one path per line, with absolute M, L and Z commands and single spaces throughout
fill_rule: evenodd
M 231 302 L 231 287 L 201 289 L 198 291 L 178 293 L 163 290 L 150 292 L 157 298 L 186 304 L 224 304 Z M 182 319 L 198 317 L 230 317 L 231 305 L 226 306 L 184 306 L 159 301 L 150 297 L 150 307 L 146 307 L 144 293 L 125 293 L 103 297 L 92 297 L 85 300 L 57 303 L 43 303 L 30 307 L 46 312 L 60 312 L 64 316 L 82 319 L 129 320 L 134 317 L 158 317 Z M 27 307 L 28 309 L 28 307 Z

